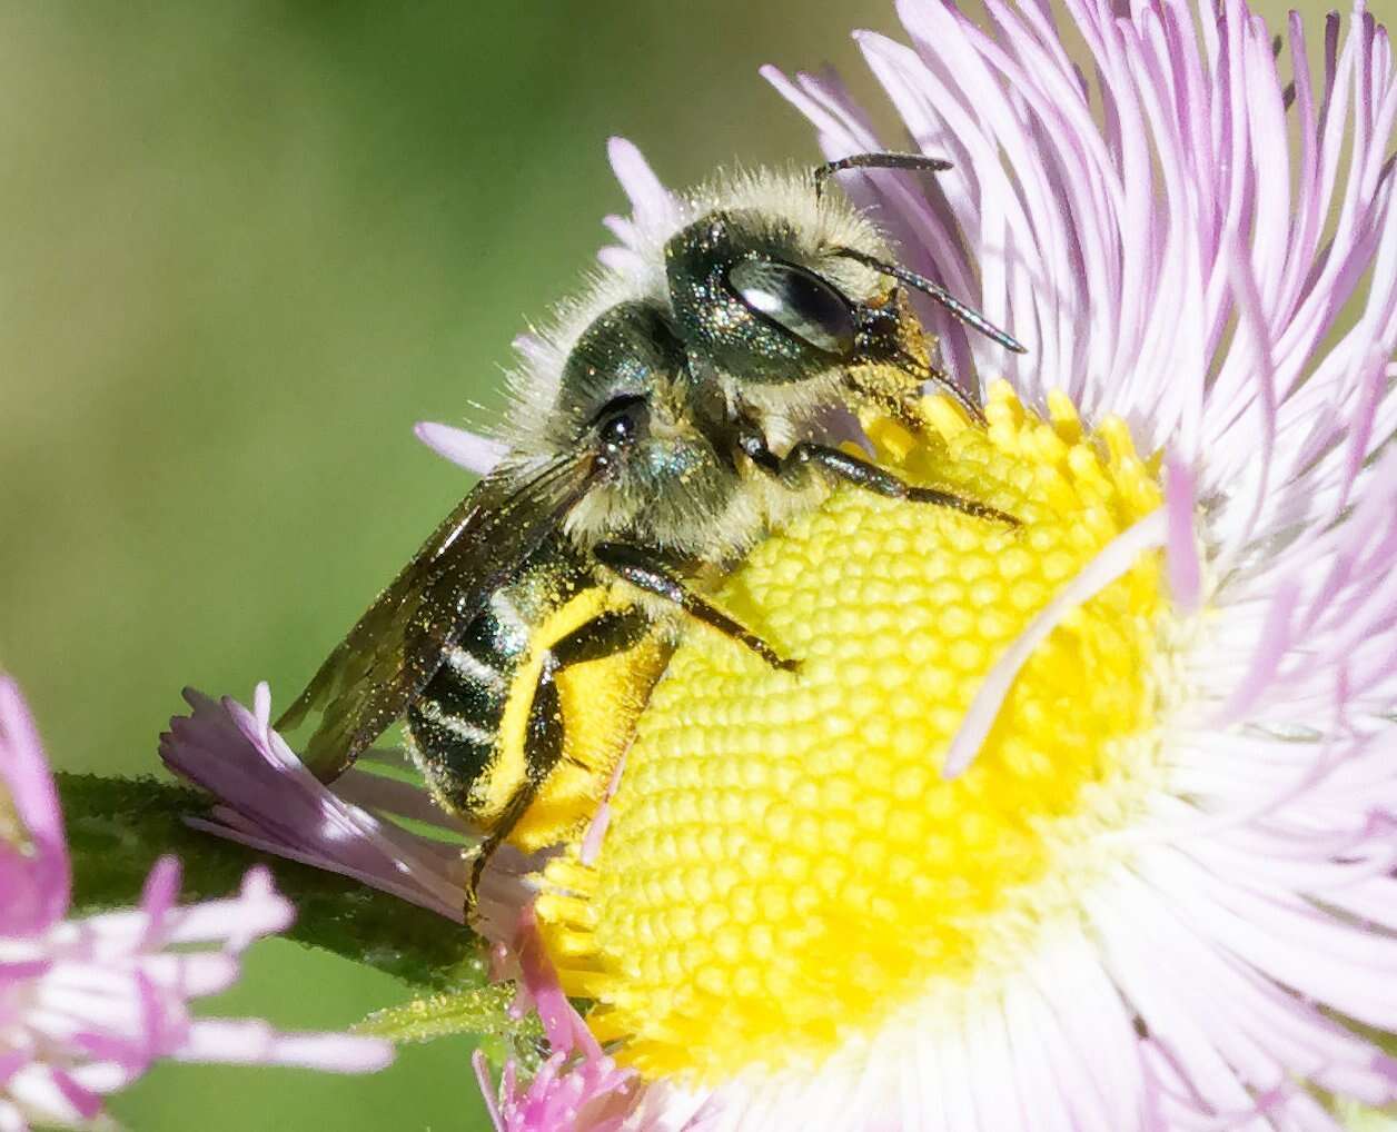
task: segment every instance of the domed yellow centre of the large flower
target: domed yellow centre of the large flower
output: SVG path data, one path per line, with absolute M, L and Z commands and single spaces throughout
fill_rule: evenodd
M 1023 525 L 845 487 L 763 543 L 719 600 L 800 670 L 690 632 L 595 861 L 573 847 L 545 874 L 563 985 L 645 1076 L 813 1064 L 1004 970 L 1158 777 L 1168 602 L 1148 553 L 1038 646 L 943 779 L 989 669 L 1161 490 L 1122 422 L 1085 434 L 1063 396 L 1041 420 L 999 384 L 988 430 L 926 408 L 925 435 L 870 426 L 879 461 Z

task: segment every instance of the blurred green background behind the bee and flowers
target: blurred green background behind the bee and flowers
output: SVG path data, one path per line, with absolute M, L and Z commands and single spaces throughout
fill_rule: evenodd
M 605 138 L 676 186 L 810 161 L 756 67 L 872 92 L 855 27 L 890 4 L 0 4 L 0 664 L 54 762 L 151 770 L 184 684 L 288 702 L 468 489 L 411 426 L 499 408 L 623 209 Z M 405 995 L 272 942 L 217 1005 L 339 1027 Z M 113 1111 L 483 1128 L 468 1055 L 169 1066 Z

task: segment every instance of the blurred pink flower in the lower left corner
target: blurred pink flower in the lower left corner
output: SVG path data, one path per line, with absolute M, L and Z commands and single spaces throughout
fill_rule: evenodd
M 239 956 L 292 909 L 254 868 L 225 900 L 179 907 L 161 860 L 137 909 L 66 920 L 70 861 L 53 777 L 15 684 L 0 676 L 0 1128 L 78 1125 L 158 1058 L 372 1072 L 381 1041 L 282 1034 L 263 1022 L 196 1019 Z M 217 945 L 217 946 L 208 946 Z

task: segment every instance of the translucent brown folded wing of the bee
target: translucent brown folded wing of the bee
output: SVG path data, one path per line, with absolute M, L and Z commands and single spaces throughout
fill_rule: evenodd
M 578 454 L 495 472 L 432 532 L 277 720 L 285 731 L 320 713 L 303 754 L 320 779 L 342 773 L 408 709 L 490 593 L 557 529 L 591 463 Z

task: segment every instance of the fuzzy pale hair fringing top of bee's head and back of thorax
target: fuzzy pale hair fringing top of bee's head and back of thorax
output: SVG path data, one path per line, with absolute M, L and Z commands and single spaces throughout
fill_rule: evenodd
M 714 212 L 739 212 L 753 223 L 753 234 L 780 232 L 792 241 L 796 262 L 817 271 L 854 301 L 868 301 L 891 290 L 890 281 L 837 254 L 852 248 L 890 257 L 882 229 L 837 184 L 816 193 L 813 169 L 735 169 L 672 197 L 659 215 L 634 218 L 633 262 L 640 268 L 602 267 L 590 272 L 581 292 L 553 307 L 548 321 L 531 327 L 520 342 L 521 364 L 506 375 L 510 409 L 490 430 L 511 452 L 524 458 L 553 455 L 548 422 L 557 384 L 577 341 L 597 318 L 619 303 L 645 301 L 669 311 L 665 246 L 689 225 Z

